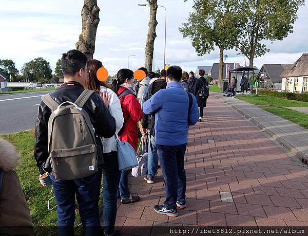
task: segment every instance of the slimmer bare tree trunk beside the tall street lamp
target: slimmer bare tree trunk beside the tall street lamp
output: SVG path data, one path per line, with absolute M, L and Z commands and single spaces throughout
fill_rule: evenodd
M 152 71 L 153 66 L 153 52 L 154 52 L 154 41 L 156 38 L 156 26 L 158 24 L 156 20 L 157 12 L 157 0 L 148 0 L 150 5 L 150 21 L 149 30 L 145 46 L 145 67 L 148 71 Z

